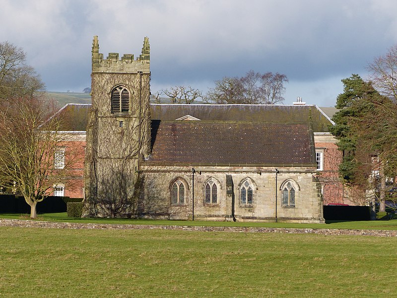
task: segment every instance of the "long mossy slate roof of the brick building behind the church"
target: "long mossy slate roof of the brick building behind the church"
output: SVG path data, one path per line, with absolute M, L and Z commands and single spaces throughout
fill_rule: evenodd
M 85 131 L 90 104 L 67 104 L 57 114 L 64 119 L 63 130 Z M 186 115 L 200 120 L 252 121 L 279 124 L 308 123 L 311 115 L 314 132 L 328 132 L 330 118 L 315 105 L 209 105 L 151 104 L 152 120 L 174 121 Z

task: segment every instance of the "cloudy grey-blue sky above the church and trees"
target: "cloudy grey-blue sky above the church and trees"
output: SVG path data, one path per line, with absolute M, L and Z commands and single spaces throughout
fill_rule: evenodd
M 99 52 L 134 54 L 149 37 L 152 93 L 224 76 L 285 74 L 285 104 L 335 105 L 341 79 L 397 43 L 396 0 L 0 0 L 0 42 L 23 48 L 48 91 L 91 84 Z

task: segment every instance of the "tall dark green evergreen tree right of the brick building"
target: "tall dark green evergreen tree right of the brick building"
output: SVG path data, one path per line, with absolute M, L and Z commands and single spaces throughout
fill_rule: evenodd
M 339 111 L 330 127 L 343 151 L 340 175 L 363 194 L 372 190 L 384 200 L 386 177 L 397 174 L 396 104 L 357 74 L 342 82 L 343 93 L 336 99 Z

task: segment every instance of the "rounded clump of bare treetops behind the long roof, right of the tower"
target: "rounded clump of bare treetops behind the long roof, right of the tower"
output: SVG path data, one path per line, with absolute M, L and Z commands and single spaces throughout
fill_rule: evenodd
M 224 77 L 215 81 L 205 101 L 214 103 L 274 104 L 282 102 L 285 92 L 285 74 L 248 72 L 242 77 Z

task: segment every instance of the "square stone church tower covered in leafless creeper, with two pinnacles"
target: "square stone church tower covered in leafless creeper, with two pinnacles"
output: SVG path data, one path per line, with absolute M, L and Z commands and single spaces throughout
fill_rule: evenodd
M 142 52 L 99 53 L 92 44 L 92 107 L 84 165 L 85 216 L 129 216 L 136 209 L 139 164 L 150 153 L 150 46 Z

